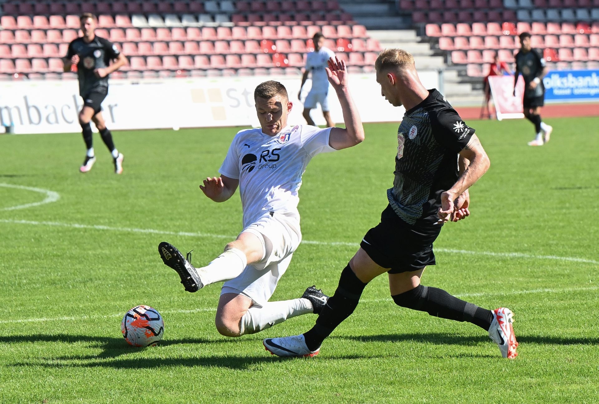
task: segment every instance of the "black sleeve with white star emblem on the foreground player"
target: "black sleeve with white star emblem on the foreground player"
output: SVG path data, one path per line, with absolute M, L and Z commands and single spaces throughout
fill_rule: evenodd
M 468 126 L 453 108 L 444 108 L 431 117 L 432 135 L 450 151 L 459 153 L 474 135 L 474 128 Z

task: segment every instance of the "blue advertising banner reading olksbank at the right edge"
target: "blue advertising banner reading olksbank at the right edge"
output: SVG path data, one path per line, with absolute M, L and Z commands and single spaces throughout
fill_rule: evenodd
M 599 70 L 552 70 L 543 84 L 546 102 L 599 101 Z

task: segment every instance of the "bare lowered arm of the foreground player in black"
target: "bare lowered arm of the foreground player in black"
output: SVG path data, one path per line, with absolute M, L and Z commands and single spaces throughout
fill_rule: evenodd
M 450 189 L 441 194 L 441 207 L 439 208 L 437 215 L 439 221 L 443 223 L 450 219 L 455 220 L 455 218 L 458 217 L 456 213 L 459 212 L 460 208 L 464 208 L 465 202 L 470 202 L 470 196 L 467 194 L 464 195 L 464 193 L 467 192 L 468 188 L 473 186 L 473 184 L 485 174 L 489 169 L 489 166 L 491 166 L 489 157 L 476 135 L 472 135 L 470 142 L 468 142 L 466 147 L 459 152 L 459 155 L 465 168 L 464 172 L 459 176 L 458 181 L 456 181 Z M 470 162 L 467 165 L 466 160 Z M 461 203 L 461 206 L 457 206 L 458 204 L 456 204 L 456 202 L 458 202 L 458 204 Z M 468 205 L 466 205 L 466 208 L 467 207 Z M 461 214 L 463 214 L 463 212 Z

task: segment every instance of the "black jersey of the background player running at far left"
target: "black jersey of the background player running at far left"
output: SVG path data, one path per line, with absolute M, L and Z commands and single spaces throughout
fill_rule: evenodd
M 120 51 L 117 47 L 97 35 L 89 43 L 83 38 L 77 38 L 69 44 L 66 58 L 71 59 L 75 54 L 79 56 L 79 63 L 77 63 L 79 95 L 85 96 L 92 91 L 108 94 L 108 76 L 96 77 L 93 71 L 107 68 L 110 65 L 110 60 L 119 57 Z

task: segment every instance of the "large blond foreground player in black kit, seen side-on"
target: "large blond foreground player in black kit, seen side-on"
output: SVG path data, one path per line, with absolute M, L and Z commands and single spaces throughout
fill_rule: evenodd
M 395 107 L 406 107 L 398 129 L 389 205 L 341 272 L 337 290 L 316 325 L 304 334 L 268 338 L 263 344 L 278 356 L 316 355 L 324 339 L 352 314 L 364 287 L 388 272 L 391 297 L 398 306 L 476 324 L 489 332 L 503 357 L 516 357 L 510 309 L 483 309 L 420 284 L 426 266 L 435 265 L 432 243 L 443 223 L 470 214 L 468 188 L 485 174 L 489 158 L 474 129 L 443 95 L 422 86 L 410 53 L 384 50 L 375 68 L 382 95 Z

